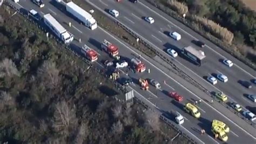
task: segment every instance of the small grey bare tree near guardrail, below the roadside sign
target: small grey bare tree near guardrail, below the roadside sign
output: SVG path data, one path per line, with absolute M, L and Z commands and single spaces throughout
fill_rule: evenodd
M 145 112 L 147 124 L 152 128 L 153 131 L 159 131 L 160 130 L 160 121 L 159 116 L 157 113 L 147 110 Z

